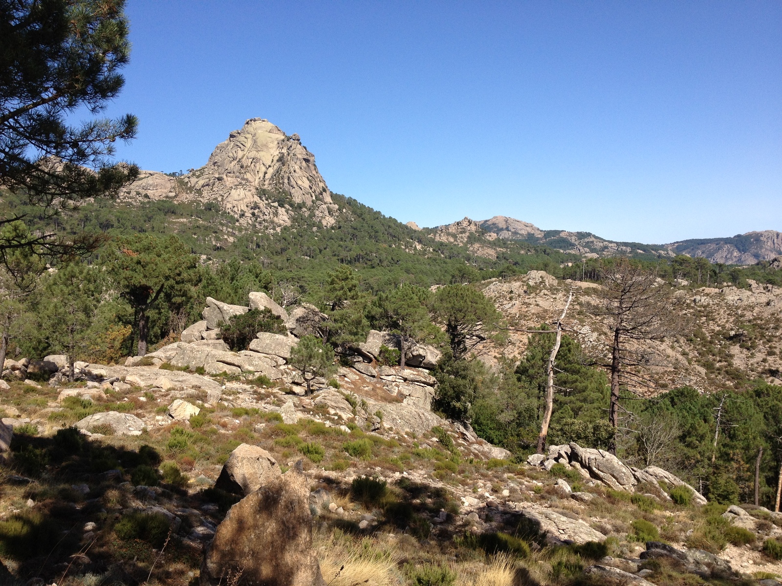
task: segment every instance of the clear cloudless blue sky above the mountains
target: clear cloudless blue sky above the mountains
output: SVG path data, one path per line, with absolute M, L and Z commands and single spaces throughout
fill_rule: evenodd
M 129 0 L 119 155 L 187 170 L 258 116 L 421 226 L 664 243 L 782 230 L 782 3 Z

